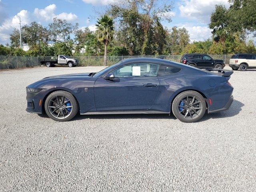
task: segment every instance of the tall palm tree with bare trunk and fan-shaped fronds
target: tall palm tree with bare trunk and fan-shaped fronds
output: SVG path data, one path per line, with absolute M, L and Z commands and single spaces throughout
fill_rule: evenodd
M 107 46 L 114 35 L 114 22 L 108 15 L 102 16 L 98 19 L 96 24 L 96 36 L 99 41 L 104 43 L 104 65 L 107 65 Z

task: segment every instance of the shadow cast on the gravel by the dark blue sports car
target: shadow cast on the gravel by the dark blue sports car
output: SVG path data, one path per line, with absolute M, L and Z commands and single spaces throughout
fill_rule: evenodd
M 204 117 L 198 122 L 206 121 L 209 119 L 218 119 L 218 118 L 226 118 L 233 117 L 239 114 L 242 110 L 244 104 L 238 100 L 234 100 L 230 108 L 223 112 L 216 112 L 212 114 L 206 114 Z M 38 114 L 38 116 L 43 118 L 49 118 L 46 114 Z M 80 115 L 77 114 L 72 120 L 83 120 L 86 118 L 90 119 L 176 119 L 176 117 L 171 113 L 169 114 L 99 114 L 99 115 Z

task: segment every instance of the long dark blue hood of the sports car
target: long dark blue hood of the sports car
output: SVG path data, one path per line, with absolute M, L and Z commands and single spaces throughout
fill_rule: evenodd
M 45 77 L 37 82 L 34 82 L 27 86 L 28 88 L 40 88 L 45 83 L 52 82 L 52 81 L 63 81 L 63 80 L 79 80 L 79 79 L 84 79 L 84 80 L 89 80 L 92 78 L 89 76 L 90 73 L 74 73 L 74 74 L 65 74 L 65 75 L 56 75 L 56 76 L 50 76 L 50 77 Z

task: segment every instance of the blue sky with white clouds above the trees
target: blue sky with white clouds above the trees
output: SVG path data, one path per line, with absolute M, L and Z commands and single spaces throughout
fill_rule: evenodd
M 19 17 L 22 26 L 33 21 L 47 26 L 57 17 L 77 22 L 80 28 L 95 30 L 96 18 L 113 1 L 117 0 L 0 0 L 0 44 L 10 42 L 13 29 L 19 28 Z M 173 0 L 172 3 L 174 9 L 168 12 L 172 22 L 163 20 L 162 24 L 167 28 L 186 28 L 191 41 L 211 37 L 208 24 L 215 4 L 229 6 L 228 0 Z

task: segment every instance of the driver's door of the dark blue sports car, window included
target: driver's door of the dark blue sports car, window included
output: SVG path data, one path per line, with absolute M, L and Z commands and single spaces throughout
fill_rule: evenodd
M 113 79 L 100 77 L 94 84 L 97 111 L 148 110 L 159 90 L 158 64 L 132 63 L 113 70 Z

